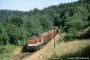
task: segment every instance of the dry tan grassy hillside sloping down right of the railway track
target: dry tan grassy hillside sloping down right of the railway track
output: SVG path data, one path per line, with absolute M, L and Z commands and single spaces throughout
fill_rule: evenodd
M 56 47 L 53 47 L 53 40 L 50 41 L 47 45 L 45 45 L 42 49 L 37 51 L 32 56 L 25 57 L 23 60 L 66 60 L 69 56 L 80 57 L 81 55 L 85 55 L 86 57 L 90 57 L 90 39 L 88 40 L 74 40 L 69 41 L 67 43 L 63 42 L 62 47 L 59 45 L 58 38 L 59 35 L 56 36 Z M 55 54 L 55 55 L 54 55 Z M 76 55 L 75 55 L 76 54 Z M 80 56 L 79 56 L 80 55 Z

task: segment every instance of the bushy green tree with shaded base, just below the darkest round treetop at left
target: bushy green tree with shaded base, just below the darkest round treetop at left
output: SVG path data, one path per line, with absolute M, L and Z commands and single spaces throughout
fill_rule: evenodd
M 5 30 L 10 38 L 10 43 L 17 44 L 17 41 L 20 40 L 21 35 L 20 28 L 14 24 L 7 24 L 5 26 Z

